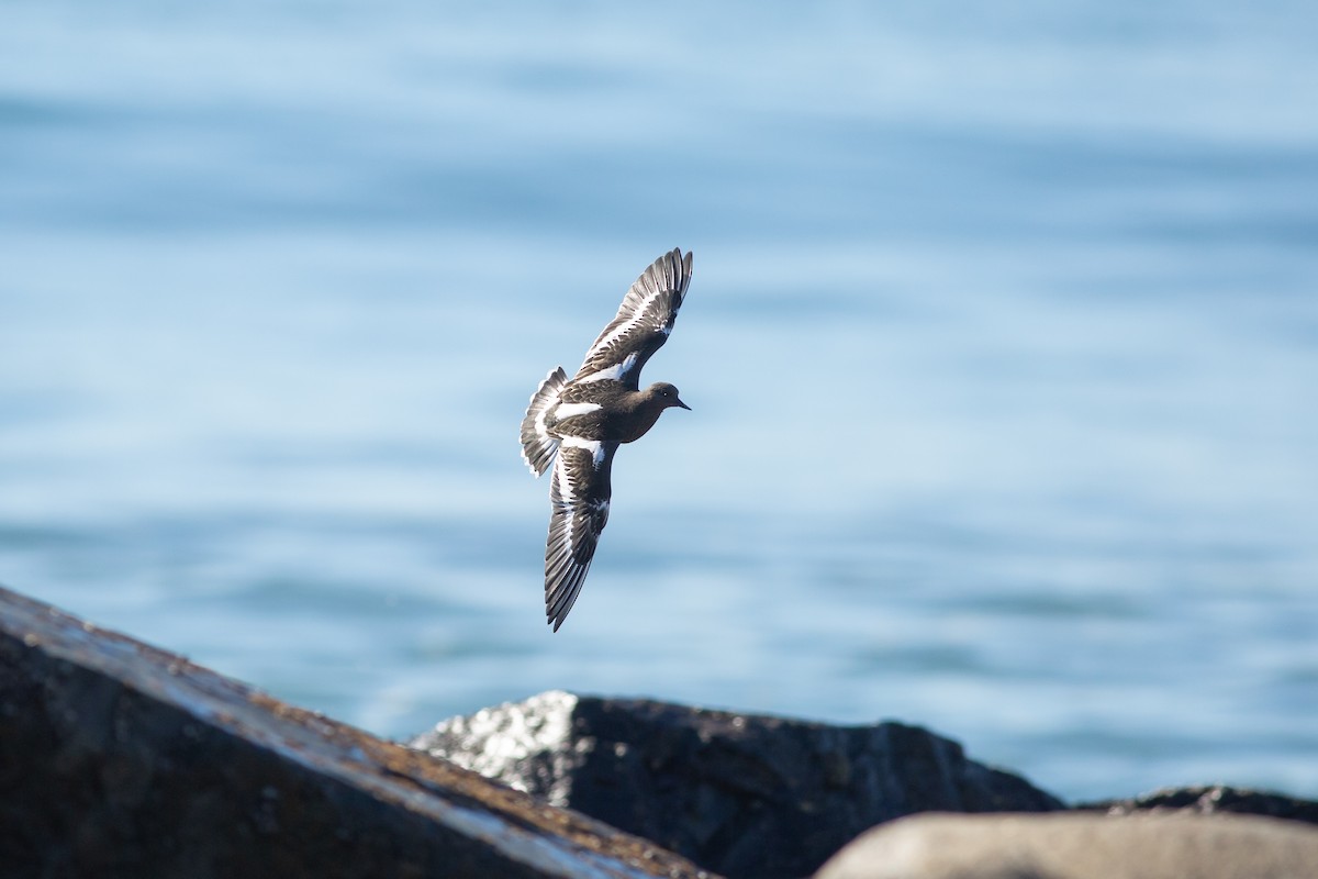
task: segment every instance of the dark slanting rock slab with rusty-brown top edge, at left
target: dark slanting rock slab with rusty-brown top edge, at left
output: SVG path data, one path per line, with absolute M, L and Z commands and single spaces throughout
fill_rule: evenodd
M 709 875 L 4 589 L 0 792 L 7 879 Z

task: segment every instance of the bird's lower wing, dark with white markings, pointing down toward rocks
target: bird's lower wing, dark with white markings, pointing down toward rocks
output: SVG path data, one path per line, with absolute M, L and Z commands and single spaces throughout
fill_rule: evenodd
M 563 438 L 550 477 L 550 538 L 544 544 L 544 613 L 559 630 L 590 569 L 609 521 L 609 473 L 617 443 Z

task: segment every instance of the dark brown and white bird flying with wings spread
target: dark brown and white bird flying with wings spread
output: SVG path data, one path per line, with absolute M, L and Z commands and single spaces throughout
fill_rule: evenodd
M 645 436 L 670 406 L 691 409 L 677 389 L 641 390 L 641 368 L 672 332 L 691 283 L 691 254 L 672 250 L 627 290 L 614 318 L 568 380 L 559 366 L 540 382 L 522 419 L 522 460 L 540 476 L 550 468 L 550 539 L 544 546 L 544 613 L 559 630 L 590 569 L 609 521 L 609 470 L 621 443 Z

